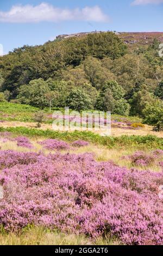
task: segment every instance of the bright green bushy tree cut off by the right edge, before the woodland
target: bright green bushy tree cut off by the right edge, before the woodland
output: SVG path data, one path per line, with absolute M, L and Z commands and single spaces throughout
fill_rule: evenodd
M 145 123 L 155 126 L 156 131 L 163 129 L 163 101 L 155 100 L 154 102 L 147 103 L 143 110 Z

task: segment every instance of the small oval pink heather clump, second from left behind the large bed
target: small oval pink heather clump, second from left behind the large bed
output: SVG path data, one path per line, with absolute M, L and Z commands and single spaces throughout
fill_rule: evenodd
M 58 139 L 46 139 L 45 141 L 39 142 L 43 145 L 43 148 L 49 150 L 66 150 L 70 148 L 70 145 L 64 141 L 58 141 Z

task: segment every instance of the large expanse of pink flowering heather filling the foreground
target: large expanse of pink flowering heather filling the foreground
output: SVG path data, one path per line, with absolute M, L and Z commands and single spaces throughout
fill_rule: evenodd
M 96 162 L 92 154 L 0 151 L 0 225 L 111 235 L 127 245 L 163 243 L 163 173 Z

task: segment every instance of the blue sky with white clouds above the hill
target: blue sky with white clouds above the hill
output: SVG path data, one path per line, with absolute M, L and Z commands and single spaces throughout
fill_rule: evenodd
M 163 0 L 1 0 L 0 54 L 60 34 L 163 31 Z

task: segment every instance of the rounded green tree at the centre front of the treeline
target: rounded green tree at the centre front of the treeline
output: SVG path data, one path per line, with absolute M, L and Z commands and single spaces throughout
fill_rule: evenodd
M 68 107 L 76 111 L 87 110 L 93 107 L 91 98 L 82 88 L 72 90 L 70 95 L 67 97 L 66 104 Z

